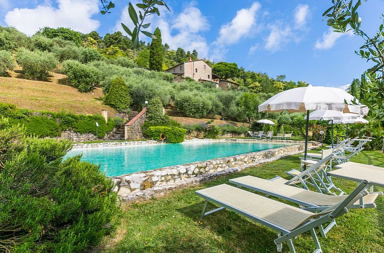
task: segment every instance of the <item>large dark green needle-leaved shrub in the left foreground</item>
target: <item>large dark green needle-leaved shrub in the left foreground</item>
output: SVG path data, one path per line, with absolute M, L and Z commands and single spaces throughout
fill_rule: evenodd
M 2 121 L 0 119 L 0 121 Z M 99 166 L 63 161 L 66 141 L 25 137 L 0 123 L 0 240 L 9 252 L 79 252 L 118 223 L 113 183 Z

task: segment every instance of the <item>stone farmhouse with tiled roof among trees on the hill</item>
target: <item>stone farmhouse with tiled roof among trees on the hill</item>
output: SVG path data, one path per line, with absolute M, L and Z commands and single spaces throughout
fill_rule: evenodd
M 212 74 L 212 68 L 204 60 L 192 60 L 191 57 L 188 61 L 181 62 L 165 71 L 179 77 L 190 77 L 198 82 L 213 82 L 216 84 L 216 88 L 224 90 L 239 86 L 237 83 L 222 80 L 220 76 Z

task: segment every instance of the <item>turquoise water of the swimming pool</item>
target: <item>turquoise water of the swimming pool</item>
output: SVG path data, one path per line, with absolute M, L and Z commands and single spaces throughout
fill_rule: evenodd
M 83 154 L 81 160 L 101 164 L 107 176 L 153 170 L 236 154 L 283 147 L 281 143 L 187 142 L 123 147 L 73 149 L 65 157 Z

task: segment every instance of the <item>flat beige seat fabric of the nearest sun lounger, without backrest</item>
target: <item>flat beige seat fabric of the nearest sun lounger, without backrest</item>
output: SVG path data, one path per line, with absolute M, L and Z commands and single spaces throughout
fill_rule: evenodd
M 292 231 L 313 217 L 312 212 L 271 200 L 228 184 L 202 189 L 197 191 L 197 193 L 289 231 Z

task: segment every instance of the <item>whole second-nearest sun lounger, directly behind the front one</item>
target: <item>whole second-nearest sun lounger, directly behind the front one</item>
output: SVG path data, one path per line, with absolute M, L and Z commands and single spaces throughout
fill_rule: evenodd
M 333 205 L 336 205 L 340 201 L 345 200 L 348 196 L 325 195 L 308 191 L 307 189 L 287 184 L 281 184 L 254 176 L 238 177 L 230 179 L 229 182 L 241 187 L 252 189 L 253 191 L 291 201 L 293 203 L 299 204 L 300 206 L 303 206 L 302 209 L 311 212 L 325 210 L 326 208 L 329 208 Z M 348 206 L 348 208 L 376 208 L 376 204 L 374 202 L 378 196 L 382 195 L 382 192 L 368 194 L 352 205 Z M 320 226 L 320 234 L 325 237 L 325 234 L 335 225 L 336 222 L 333 221 L 325 228 Z

